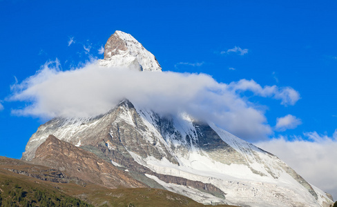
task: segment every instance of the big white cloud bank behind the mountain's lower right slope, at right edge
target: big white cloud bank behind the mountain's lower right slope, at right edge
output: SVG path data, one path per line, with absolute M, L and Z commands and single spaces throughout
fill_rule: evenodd
M 337 198 L 337 130 L 332 137 L 318 135 L 317 132 L 305 133 L 288 141 L 279 137 L 270 141 L 256 143 L 285 161 L 309 183 Z M 309 140 L 307 140 L 309 139 Z

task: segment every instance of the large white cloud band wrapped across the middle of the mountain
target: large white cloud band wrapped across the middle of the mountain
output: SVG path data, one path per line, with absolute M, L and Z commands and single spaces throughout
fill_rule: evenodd
M 99 115 L 127 98 L 156 112 L 187 112 L 197 119 L 213 121 L 249 141 L 264 139 L 272 133 L 271 127 L 259 107 L 233 90 L 239 83 L 218 83 L 204 74 L 139 72 L 99 67 L 97 63 L 61 71 L 56 61 L 12 86 L 8 100 L 26 102 L 26 108 L 12 110 L 17 115 L 50 118 Z

